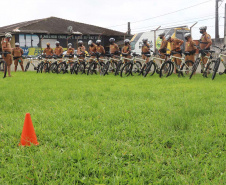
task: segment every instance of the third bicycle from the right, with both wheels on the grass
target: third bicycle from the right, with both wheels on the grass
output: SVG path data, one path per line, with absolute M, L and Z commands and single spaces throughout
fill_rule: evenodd
M 181 53 L 176 51 L 171 51 L 170 55 L 166 54 L 166 56 L 169 56 L 170 59 L 162 64 L 160 69 L 160 74 L 159 74 L 160 78 L 164 76 L 168 77 L 172 75 L 174 68 L 176 68 L 178 77 L 180 76 L 184 77 L 184 75 L 190 75 L 190 73 L 192 72 L 192 66 L 194 65 L 194 62 L 192 62 L 191 60 L 185 61 L 185 56 L 190 55 L 191 53 L 184 52 L 182 53 L 181 57 L 173 56 L 174 54 L 181 54 Z M 174 59 L 181 60 L 181 64 L 177 65 Z

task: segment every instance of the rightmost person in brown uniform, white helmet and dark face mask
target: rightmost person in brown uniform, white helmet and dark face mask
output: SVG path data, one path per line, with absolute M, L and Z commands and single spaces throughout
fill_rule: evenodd
M 210 50 L 210 46 L 212 45 L 212 40 L 210 35 L 206 32 L 207 26 L 202 26 L 199 28 L 200 33 L 202 34 L 200 39 L 199 47 L 201 50 Z M 206 56 L 210 56 L 210 53 L 208 52 Z M 207 63 L 208 58 L 205 57 L 205 54 L 202 55 L 202 63 L 201 63 L 201 73 L 204 70 L 204 65 Z

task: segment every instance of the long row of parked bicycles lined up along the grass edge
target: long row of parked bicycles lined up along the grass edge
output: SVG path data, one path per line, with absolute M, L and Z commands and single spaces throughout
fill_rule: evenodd
M 132 55 L 121 54 L 112 55 L 100 53 L 93 53 L 91 55 L 65 55 L 63 56 L 26 56 L 28 59 L 25 71 L 27 71 L 32 65 L 37 73 L 57 73 L 57 74 L 100 74 L 108 75 L 109 73 L 114 73 L 115 76 L 120 75 L 121 77 L 128 76 L 153 76 L 158 74 L 161 78 L 169 77 L 173 74 L 174 69 L 179 77 L 188 76 L 190 79 L 196 73 L 199 65 L 204 66 L 202 75 L 203 77 L 208 77 L 212 75 L 212 79 L 216 77 L 216 74 L 223 75 L 226 74 L 226 62 L 224 62 L 222 54 L 226 49 L 225 46 L 219 49 L 219 56 L 214 59 L 213 50 L 199 50 L 199 56 L 196 58 L 195 62 L 190 60 L 185 60 L 186 55 L 190 55 L 189 52 L 178 53 L 176 51 L 171 51 L 170 54 L 155 54 L 151 51 L 151 54 L 145 54 L 150 60 L 146 63 L 145 59 L 136 53 Z M 209 53 L 209 55 L 207 54 Z M 176 57 L 175 54 L 181 54 Z M 202 58 L 207 58 L 207 63 L 204 64 Z M 176 59 L 181 60 L 181 64 L 177 65 L 174 62 Z M 220 64 L 223 64 L 224 71 L 219 71 Z

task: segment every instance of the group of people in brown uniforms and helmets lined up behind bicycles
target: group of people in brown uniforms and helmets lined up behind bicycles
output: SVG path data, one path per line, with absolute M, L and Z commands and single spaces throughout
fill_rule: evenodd
M 202 26 L 200 27 L 200 33 L 202 34 L 201 39 L 200 39 L 200 44 L 199 47 L 202 50 L 210 50 L 210 46 L 212 45 L 212 40 L 210 35 L 206 32 L 207 27 Z M 161 58 L 166 58 L 166 52 L 167 52 L 167 47 L 168 43 L 170 43 L 171 51 L 176 51 L 175 54 L 173 54 L 176 57 L 181 57 L 182 55 L 182 50 L 181 50 L 181 45 L 184 43 L 183 40 L 180 40 L 178 38 L 172 38 L 170 35 L 165 36 L 165 33 L 159 34 L 160 39 L 162 40 L 161 46 L 159 49 L 159 54 Z M 186 39 L 185 43 L 185 52 L 189 52 L 189 55 L 186 55 L 185 60 L 191 60 L 195 61 L 195 53 L 196 53 L 196 45 L 195 42 L 192 40 L 191 34 L 186 33 L 184 35 Z M 11 48 L 10 45 L 10 40 L 12 38 L 12 35 L 10 33 L 5 34 L 5 38 L 2 40 L 2 51 L 4 52 L 3 59 L 6 61 L 7 64 L 7 71 L 8 71 L 8 76 L 11 77 L 11 72 L 10 72 L 10 66 L 12 64 L 12 56 L 14 58 L 14 64 L 15 64 L 15 71 L 17 70 L 18 64 L 20 64 L 22 71 L 24 71 L 23 67 L 23 50 L 20 48 L 19 43 L 15 43 L 15 48 Z M 114 38 L 109 39 L 110 47 L 109 47 L 109 52 L 110 54 L 113 55 L 113 58 L 117 55 L 123 54 L 126 58 L 131 58 L 131 46 L 130 46 L 130 40 L 125 39 L 124 40 L 124 46 L 122 47 L 121 51 L 119 49 L 119 46 L 115 43 Z M 43 54 L 46 56 L 52 56 L 52 55 L 57 55 L 59 58 L 63 57 L 63 47 L 60 46 L 60 42 L 56 41 L 56 47 L 55 50 L 53 50 L 50 47 L 50 43 L 47 43 L 47 47 L 44 49 Z M 100 53 L 101 56 L 104 56 L 105 54 L 105 49 L 101 45 L 101 40 L 97 40 L 96 43 L 94 43 L 92 40 L 88 42 L 88 53 L 91 55 L 91 58 L 89 61 L 92 61 L 95 58 L 95 53 Z M 68 49 L 66 55 L 69 55 L 70 58 L 74 57 L 74 48 L 72 48 L 72 44 L 68 44 Z M 83 44 L 82 40 L 78 41 L 78 48 L 77 48 L 77 55 L 80 59 L 84 59 L 86 53 L 86 48 Z M 149 57 L 146 54 L 150 54 L 150 45 L 148 44 L 148 39 L 143 39 L 143 45 L 141 48 L 141 53 L 142 53 L 142 59 L 146 62 L 149 61 Z M 210 54 L 207 53 L 207 56 Z M 203 64 L 206 64 L 207 58 L 203 56 Z M 175 60 L 177 65 L 181 64 L 180 59 Z M 203 71 L 204 65 L 202 64 L 201 70 Z

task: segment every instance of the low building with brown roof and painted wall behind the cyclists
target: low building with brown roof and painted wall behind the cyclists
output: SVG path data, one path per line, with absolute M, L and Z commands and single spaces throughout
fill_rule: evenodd
M 57 17 L 21 22 L 9 26 L 0 27 L 0 37 L 6 32 L 13 35 L 11 45 L 19 42 L 25 55 L 38 55 L 50 43 L 55 48 L 55 41 L 60 41 L 61 46 L 66 50 L 67 44 L 72 43 L 77 48 L 78 40 L 83 40 L 86 48 L 89 40 L 94 42 L 102 40 L 106 49 L 109 47 L 109 38 L 114 37 L 116 41 L 123 40 L 125 33 L 93 26 L 89 24 L 74 22 Z M 128 35 L 126 35 L 128 37 Z

